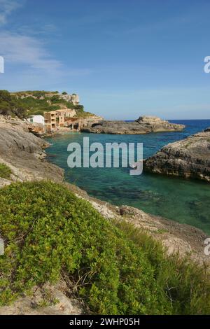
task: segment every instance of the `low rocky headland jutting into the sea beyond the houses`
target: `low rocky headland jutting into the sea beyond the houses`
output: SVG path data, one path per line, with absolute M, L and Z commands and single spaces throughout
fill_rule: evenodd
M 83 127 L 82 132 L 95 134 L 147 134 L 149 132 L 172 132 L 183 130 L 185 126 L 161 120 L 154 116 L 141 116 L 136 121 L 105 121 Z

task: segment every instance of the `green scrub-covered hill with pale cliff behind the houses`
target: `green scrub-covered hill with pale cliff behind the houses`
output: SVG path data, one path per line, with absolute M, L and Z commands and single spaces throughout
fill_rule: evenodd
M 43 116 L 44 112 L 64 108 L 75 109 L 78 116 L 83 116 L 83 105 L 74 105 L 61 99 L 58 92 L 42 90 L 10 93 L 0 90 L 0 114 L 3 115 L 26 118 L 33 115 Z

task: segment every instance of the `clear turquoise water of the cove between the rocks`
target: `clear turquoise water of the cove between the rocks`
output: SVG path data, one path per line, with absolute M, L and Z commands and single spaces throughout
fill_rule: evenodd
M 65 169 L 66 181 L 75 183 L 90 195 L 116 205 L 127 204 L 148 213 L 164 216 L 179 223 L 187 223 L 210 234 L 210 185 L 200 181 L 186 181 L 167 176 L 142 174 L 130 176 L 125 168 L 67 167 L 67 146 L 83 137 L 94 141 L 144 143 L 144 158 L 156 153 L 162 146 L 183 139 L 210 126 L 210 120 L 174 120 L 187 127 L 183 132 L 160 132 L 146 135 L 109 135 L 69 133 L 48 138 L 52 144 L 46 150 L 48 160 Z

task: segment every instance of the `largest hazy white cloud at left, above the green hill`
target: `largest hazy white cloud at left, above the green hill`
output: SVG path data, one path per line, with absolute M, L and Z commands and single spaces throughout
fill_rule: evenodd
M 0 75 L 0 89 L 52 89 L 71 85 L 76 78 L 89 76 L 88 68 L 66 66 L 54 59 L 45 43 L 35 36 L 0 31 L 0 50 L 5 59 L 5 73 Z

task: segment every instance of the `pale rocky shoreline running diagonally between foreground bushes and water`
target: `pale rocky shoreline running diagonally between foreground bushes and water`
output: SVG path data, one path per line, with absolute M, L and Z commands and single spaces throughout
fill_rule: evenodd
M 48 146 L 49 144 L 43 139 L 29 132 L 27 123 L 21 120 L 1 120 L 0 163 L 8 165 L 13 174 L 10 179 L 0 178 L 0 186 L 15 181 L 42 179 L 64 183 L 76 195 L 90 201 L 93 207 L 104 217 L 126 218 L 127 221 L 147 230 L 155 239 L 164 240 L 164 244 L 169 247 L 170 251 L 179 251 L 181 254 L 192 251 L 193 258 L 209 261 L 203 253 L 203 241 L 207 237 L 204 232 L 190 225 L 182 225 L 165 218 L 146 214 L 139 209 L 127 206 L 114 207 L 107 202 L 89 197 L 85 191 L 80 190 L 75 185 L 65 183 L 63 169 L 45 159 L 44 149 Z M 184 235 L 183 232 L 185 232 Z

